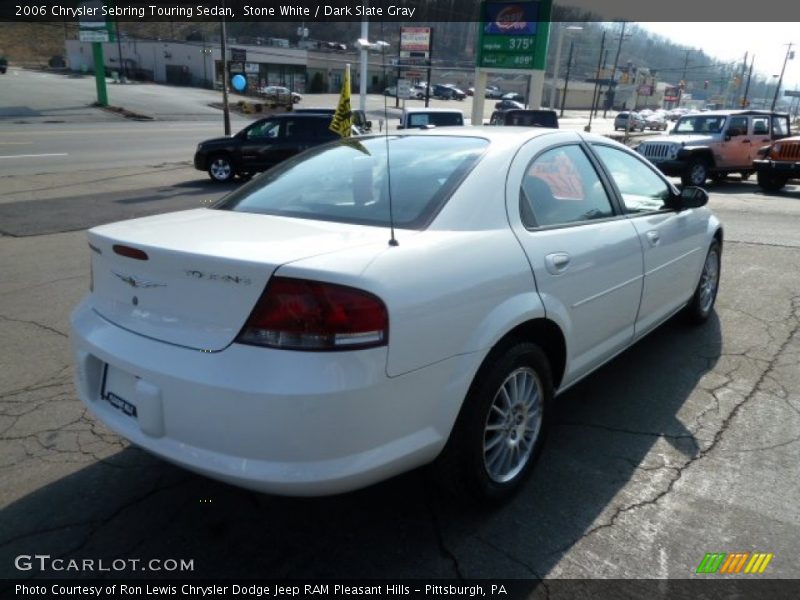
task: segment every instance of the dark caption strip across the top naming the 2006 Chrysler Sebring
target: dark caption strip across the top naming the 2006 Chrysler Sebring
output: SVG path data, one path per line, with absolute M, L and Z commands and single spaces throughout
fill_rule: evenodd
M 559 10 L 572 9 L 569 14 L 580 15 L 581 21 L 800 21 L 800 2 L 785 0 L 760 0 L 757 10 L 748 3 L 727 3 L 725 10 L 720 10 L 719 3 L 694 0 L 562 0 L 556 5 Z M 90 8 L 97 8 L 96 3 L 81 0 L 0 0 L 0 21 L 62 23 L 90 17 L 123 22 L 218 22 L 225 18 L 228 21 L 299 24 L 361 21 L 367 18 L 370 21 L 409 25 L 454 21 L 478 23 L 482 20 L 479 0 L 114 0 L 105 3 L 96 14 L 87 14 Z M 557 19 L 559 12 L 556 11 L 553 17 Z M 525 22 L 533 21 L 528 19 Z M 534 32 L 521 33 L 533 35 Z

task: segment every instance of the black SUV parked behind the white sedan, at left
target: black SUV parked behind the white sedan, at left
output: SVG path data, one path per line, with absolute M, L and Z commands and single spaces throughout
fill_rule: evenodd
M 303 150 L 338 139 L 329 129 L 330 115 L 280 114 L 259 119 L 233 137 L 206 140 L 197 146 L 194 168 L 212 180 L 248 178 Z

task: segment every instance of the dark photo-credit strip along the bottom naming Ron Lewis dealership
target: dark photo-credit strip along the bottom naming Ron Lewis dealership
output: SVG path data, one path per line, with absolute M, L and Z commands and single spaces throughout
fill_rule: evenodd
M 687 574 L 688 575 L 688 574 Z M 742 579 L 697 575 L 695 579 L 433 579 L 433 580 L 177 580 L 34 579 L 0 582 L 2 598 L 386 598 L 435 600 L 672 600 L 742 598 L 795 600 L 797 579 Z

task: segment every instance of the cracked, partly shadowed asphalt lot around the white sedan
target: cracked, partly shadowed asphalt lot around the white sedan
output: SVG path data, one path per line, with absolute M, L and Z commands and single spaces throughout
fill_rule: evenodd
M 123 175 L 112 203 L 182 182 L 197 193 L 156 193 L 153 210 L 219 195 L 192 187 L 202 175 L 188 167 Z M 90 417 L 67 337 L 88 287 L 81 229 L 97 217 L 84 213 L 100 202 L 87 179 L 65 188 L 72 211 L 51 211 L 58 186 L 46 175 L 15 180 L 4 200 L 19 208 L 4 213 L 17 233 L 0 236 L 0 577 L 56 576 L 14 567 L 49 554 L 192 559 L 188 577 L 518 578 L 533 589 L 693 578 L 706 552 L 739 551 L 774 553 L 764 577 L 800 576 L 800 187 L 709 188 L 726 227 L 715 315 L 700 328 L 670 321 L 561 396 L 533 477 L 479 512 L 422 470 L 336 497 L 261 495 L 173 467 Z M 136 203 L 115 206 L 104 219 Z

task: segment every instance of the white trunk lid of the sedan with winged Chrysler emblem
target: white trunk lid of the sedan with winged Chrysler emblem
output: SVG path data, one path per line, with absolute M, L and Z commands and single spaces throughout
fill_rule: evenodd
M 381 227 L 197 209 L 88 232 L 94 309 L 160 341 L 217 351 L 282 264 L 386 241 Z

